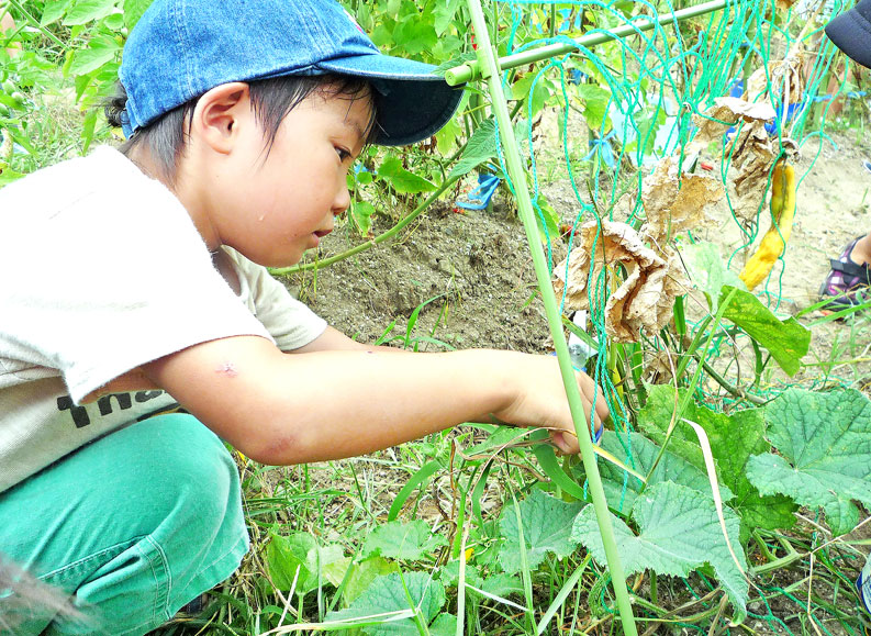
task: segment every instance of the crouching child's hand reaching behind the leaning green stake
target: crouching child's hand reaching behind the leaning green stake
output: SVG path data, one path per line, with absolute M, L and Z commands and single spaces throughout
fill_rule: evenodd
M 506 409 L 493 413 L 493 416 L 516 426 L 547 428 L 559 450 L 565 454 L 578 453 L 580 445 L 557 359 L 552 356 L 518 355 L 517 362 L 518 369 L 514 375 L 517 381 L 516 397 Z M 611 414 L 605 398 L 590 376 L 576 372 L 576 378 L 588 423 L 595 399 L 594 423 L 599 431 L 602 421 Z

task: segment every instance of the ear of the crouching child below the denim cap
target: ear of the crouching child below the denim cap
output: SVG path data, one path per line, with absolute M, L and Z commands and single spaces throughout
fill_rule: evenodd
M 239 124 L 250 115 L 248 85 L 222 83 L 205 92 L 191 115 L 190 133 L 221 154 L 227 154 L 238 136 Z

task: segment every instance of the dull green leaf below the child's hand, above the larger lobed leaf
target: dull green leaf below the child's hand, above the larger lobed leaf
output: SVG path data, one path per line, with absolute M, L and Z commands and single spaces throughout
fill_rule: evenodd
M 650 471 L 650 467 L 654 465 L 657 455 L 659 455 L 659 446 L 640 433 L 630 433 L 624 442 L 616 433 L 605 431 L 602 436 L 602 447 L 617 459 L 625 458 L 624 461 L 627 466 L 644 475 Z M 628 513 L 641 491 L 641 480 L 608 461 L 600 462 L 599 470 L 602 473 L 602 486 L 605 490 L 608 506 L 613 510 Z M 625 490 L 624 476 L 626 477 Z M 660 459 L 656 470 L 650 476 L 647 486 L 649 488 L 663 481 L 673 481 L 708 496 L 711 495 L 711 483 L 707 475 L 668 450 L 662 455 L 662 459 Z M 719 495 L 723 501 L 728 501 L 733 498 L 732 491 L 725 486 L 721 486 Z

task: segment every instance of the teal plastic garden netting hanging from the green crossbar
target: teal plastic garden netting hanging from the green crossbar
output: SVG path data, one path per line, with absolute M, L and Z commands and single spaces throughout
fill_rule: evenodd
M 822 10 L 814 11 L 814 7 L 819 3 L 797 3 L 790 9 L 781 9 L 774 0 L 728 2 L 725 9 L 695 18 L 689 24 L 656 24 L 647 33 L 636 29 L 635 35 L 630 37 L 610 42 L 595 49 L 579 47 L 571 54 L 550 58 L 531 69 L 534 79 L 527 83 L 526 118 L 523 122 L 523 135 L 526 140 L 523 150 L 529 167 L 532 200 L 547 244 L 550 268 L 555 267 L 554 224 L 548 223 L 548 210 L 541 203 L 539 161 L 533 150 L 536 114 L 534 108 L 539 87 L 546 85 L 546 91 L 561 96 L 558 107 L 563 158 L 561 176 L 571 185 L 577 203 L 572 230 L 590 219 L 614 220 L 614 207 L 619 196 L 628 190 L 640 190 L 645 175 L 658 159 L 674 154 L 681 165 L 684 164 L 688 158 L 686 146 L 696 132 L 693 115 L 704 118 L 704 112 L 714 104 L 716 98 L 729 94 L 730 91 L 740 92 L 740 85 L 746 85 L 752 71 L 758 69 L 764 74 L 767 91 L 762 94 L 767 94 L 780 113 L 772 127 L 778 155 L 788 154 L 795 146 L 811 149 L 818 155 L 825 140 L 828 140 L 822 126 L 833 103 L 828 97 L 838 97 L 845 90 L 845 82 L 841 81 L 835 96 L 820 96 L 824 92 L 820 86 L 829 77 L 836 60 L 836 48 L 822 36 L 822 29 L 824 19 L 851 3 L 849 0 L 823 2 Z M 506 35 L 501 35 L 495 41 L 501 43 L 501 55 L 516 54 L 548 44 L 573 42 L 581 32 L 590 34 L 637 24 L 639 15 L 647 15 L 652 23 L 660 14 L 683 8 L 675 7 L 668 0 L 638 1 L 633 3 L 630 14 L 627 15 L 626 4 L 594 0 L 504 0 L 494 3 L 494 13 L 496 20 L 507 23 L 502 31 Z M 800 13 L 796 8 L 803 5 L 807 5 L 806 11 Z M 799 72 L 804 83 L 801 91 L 796 87 L 788 86 L 785 75 L 774 77 L 771 72 L 772 63 L 777 65 L 799 46 L 805 49 L 797 57 L 802 63 Z M 506 92 L 512 90 L 514 80 L 513 72 L 504 74 L 503 87 Z M 589 112 L 590 87 L 604 88 L 606 104 L 601 120 L 591 121 L 591 116 L 583 116 L 578 112 L 579 103 L 587 107 Z M 601 96 L 595 97 L 602 99 Z M 820 101 L 820 97 L 826 100 Z M 784 112 L 786 116 L 783 116 Z M 579 143 L 572 136 L 579 123 L 580 127 L 589 131 L 590 150 L 588 153 L 587 147 L 582 149 L 585 155 L 582 160 L 579 160 L 579 145 L 588 141 L 582 140 Z M 735 135 L 740 134 L 741 125 L 736 125 L 738 130 Z M 789 140 L 793 140 L 794 144 Z M 740 219 L 734 208 L 734 191 L 730 192 L 728 187 L 734 153 L 734 149 L 727 153 L 728 147 L 728 140 L 719 144 L 719 177 L 726 185 L 726 204 L 741 236 L 739 244 L 730 248 L 729 265 L 733 265 L 732 260 L 753 244 L 760 226 L 767 226 L 766 222 L 770 216 L 766 194 L 771 179 L 769 175 L 766 192 L 760 193 L 753 216 Z M 503 172 L 506 172 L 501 149 L 499 158 Z M 813 161 L 807 171 L 811 169 Z M 554 175 L 549 177 L 554 178 Z M 585 179 L 589 186 L 589 192 L 583 194 L 581 179 Z M 513 190 L 512 183 L 510 187 Z M 640 198 L 636 199 L 628 216 L 622 220 L 636 227 L 640 226 L 644 222 Z M 569 249 L 572 248 L 571 241 Z M 782 257 L 780 260 L 782 261 Z M 780 278 L 783 269 L 775 267 L 773 271 L 774 275 L 766 283 L 764 292 L 771 306 L 777 309 L 782 300 Z M 607 284 L 603 271 L 591 271 L 589 289 L 590 332 L 599 342 L 600 355 L 595 357 L 595 368 L 588 370 L 603 386 L 619 427 L 629 429 L 624 404 L 614 386 L 614 369 L 606 366 L 613 356 L 607 355 L 604 330 L 603 312 L 607 300 Z M 565 291 L 561 301 L 565 302 Z M 690 322 L 689 326 L 692 330 L 697 325 Z M 692 331 L 690 334 L 692 335 Z M 717 357 L 721 347 L 732 346 L 734 339 L 734 334 L 716 337 L 708 355 Z M 655 348 L 666 347 L 660 336 L 652 337 L 651 344 Z M 700 382 L 700 394 L 705 393 L 702 386 Z M 766 390 L 767 393 L 771 391 L 778 391 L 778 388 Z M 725 399 L 734 401 L 728 397 Z M 630 461 L 632 458 L 628 459 Z

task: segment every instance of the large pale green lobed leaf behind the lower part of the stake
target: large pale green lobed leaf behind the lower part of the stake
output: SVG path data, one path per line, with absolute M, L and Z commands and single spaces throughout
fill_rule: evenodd
M 729 539 L 744 569 L 744 551 L 737 545 L 738 517 L 728 507 L 724 509 L 724 515 Z M 660 574 L 686 577 L 710 564 L 733 604 L 741 614 L 746 612 L 749 585 L 726 546 L 713 499 L 667 481 L 648 488 L 636 500 L 633 518 L 640 531 L 638 536 L 622 520 L 614 515 L 611 520 L 626 574 L 650 568 Z M 574 520 L 571 538 L 582 543 L 600 565 L 606 565 L 593 506 L 582 510 Z

